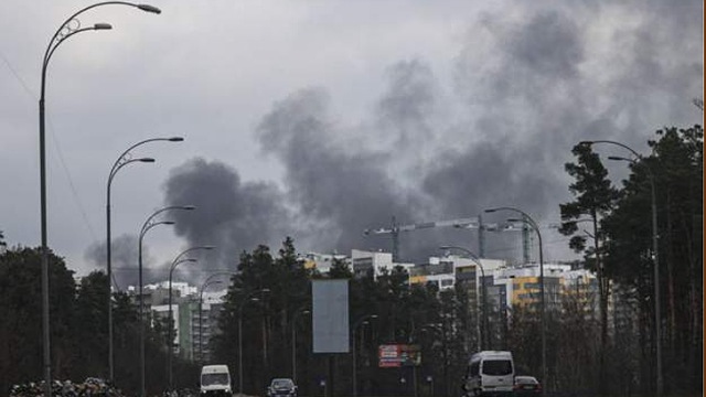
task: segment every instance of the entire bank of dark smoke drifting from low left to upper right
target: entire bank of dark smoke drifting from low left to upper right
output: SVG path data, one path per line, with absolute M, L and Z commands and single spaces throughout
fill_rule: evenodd
M 603 53 L 596 49 L 597 26 L 611 12 L 632 23 L 607 25 L 619 45 Z M 450 87 L 425 60 L 395 63 L 363 127 L 338 124 L 325 89 L 301 89 L 274 104 L 256 132 L 264 153 L 285 167 L 281 191 L 242 183 L 217 162 L 174 170 L 167 203 L 199 206 L 178 215 L 176 230 L 192 245 L 225 247 L 218 260 L 227 262 L 257 244 L 277 247 L 286 235 L 304 251 L 389 250 L 389 236 L 362 232 L 389 227 L 392 216 L 411 224 L 509 205 L 543 225 L 558 222 L 558 204 L 571 200 L 564 163 L 574 161 L 574 144 L 616 139 L 646 150 L 662 125 L 693 119 L 691 98 L 703 92 L 702 14 L 696 1 L 651 1 L 520 4 L 512 13 L 479 15 Z M 667 110 L 660 125 L 651 119 L 656 108 Z M 550 234 L 543 232 L 545 243 Z M 474 232 L 453 228 L 403 234 L 402 259 L 424 260 L 441 244 L 477 250 L 475 239 Z M 491 257 L 520 256 L 518 234 L 488 242 Z M 545 257 L 561 247 L 568 253 L 567 244 L 547 244 Z

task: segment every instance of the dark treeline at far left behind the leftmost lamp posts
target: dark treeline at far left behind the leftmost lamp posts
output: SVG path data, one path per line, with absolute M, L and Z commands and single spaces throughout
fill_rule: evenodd
M 53 253 L 49 256 L 52 377 L 83 382 L 108 379 L 108 279 L 93 272 L 74 281 L 74 272 Z M 40 248 L 14 247 L 0 255 L 0 396 L 15 384 L 44 379 L 42 372 L 42 292 Z M 138 395 L 139 313 L 126 293 L 114 294 L 115 384 Z M 147 390 L 160 394 L 167 385 L 164 331 L 146 322 Z M 174 379 L 194 387 L 199 367 L 175 361 Z

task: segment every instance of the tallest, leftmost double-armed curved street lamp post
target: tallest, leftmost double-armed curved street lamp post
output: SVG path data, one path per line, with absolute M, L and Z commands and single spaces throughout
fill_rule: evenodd
M 50 345 L 50 322 L 49 322 L 49 247 L 46 232 L 46 146 L 45 146 L 45 93 L 46 93 L 46 69 L 54 51 L 66 39 L 74 34 L 94 31 L 109 30 L 113 26 L 108 23 L 95 23 L 93 26 L 81 28 L 78 15 L 93 8 L 108 4 L 120 4 L 136 7 L 142 11 L 160 13 L 160 9 L 149 4 L 133 4 L 125 1 L 105 1 L 85 7 L 78 12 L 68 17 L 56 30 L 49 42 L 42 58 L 42 76 L 40 83 L 40 222 L 41 222 L 41 239 L 42 239 L 42 350 L 43 350 L 43 368 L 44 368 L 44 393 L 50 396 L 52 393 L 52 363 L 51 363 L 51 345 Z

